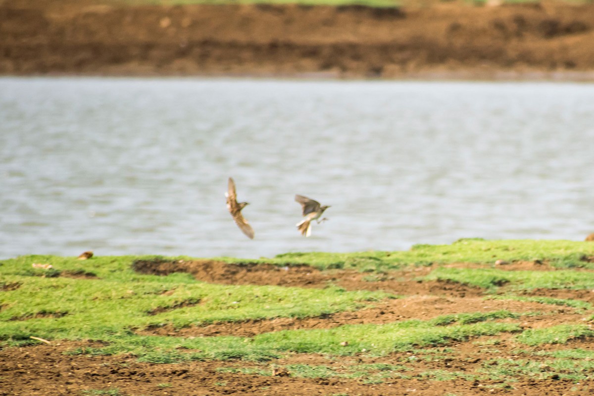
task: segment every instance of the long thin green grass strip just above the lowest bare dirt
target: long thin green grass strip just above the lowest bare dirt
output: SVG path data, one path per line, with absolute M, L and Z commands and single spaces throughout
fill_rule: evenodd
M 343 325 L 327 330 L 286 330 L 258 334 L 252 338 L 119 334 L 108 337 L 110 344 L 105 347 L 72 353 L 128 353 L 137 356 L 140 361 L 152 363 L 204 359 L 266 361 L 287 353 L 386 356 L 416 346 L 443 346 L 479 335 L 515 331 L 520 331 L 517 324 L 493 321 L 450 326 L 435 326 L 430 321 L 405 321 L 384 325 Z M 344 341 L 348 344 L 345 345 Z

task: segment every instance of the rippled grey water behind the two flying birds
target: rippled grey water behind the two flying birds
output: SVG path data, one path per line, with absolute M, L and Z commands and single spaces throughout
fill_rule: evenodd
M 592 84 L 2 78 L 0 258 L 582 240 L 592 103 Z M 295 194 L 331 205 L 308 239 Z

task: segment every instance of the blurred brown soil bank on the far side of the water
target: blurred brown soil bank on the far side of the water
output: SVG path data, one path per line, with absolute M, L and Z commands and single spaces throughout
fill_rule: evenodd
M 406 2 L 405 2 L 406 4 Z M 0 1 L 0 74 L 594 80 L 594 5 Z

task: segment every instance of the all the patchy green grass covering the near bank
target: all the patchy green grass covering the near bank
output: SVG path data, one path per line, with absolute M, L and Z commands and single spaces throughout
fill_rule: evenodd
M 257 362 L 270 362 L 295 353 L 324 354 L 328 359 L 340 356 L 377 358 L 422 350 L 420 355 L 424 359 L 435 353 L 438 357 L 433 358 L 445 359 L 449 352 L 445 353 L 444 348 L 458 343 L 481 340 L 485 345 L 496 346 L 505 339 L 514 350 L 523 351 L 526 359 L 505 362 L 493 359 L 492 364 L 485 365 L 482 371 L 465 375 L 491 379 L 504 376 L 504 372 L 511 372 L 512 378 L 514 375 L 544 375 L 530 363 L 531 358 L 538 357 L 540 360 L 546 358 L 546 367 L 551 368 L 549 372 L 552 370 L 557 375 L 578 381 L 589 378 L 587 370 L 592 368 L 583 366 L 590 365 L 588 362 L 576 363 L 573 356 L 594 359 L 594 352 L 568 344 L 566 348 L 550 351 L 545 356 L 539 347 L 564 345 L 594 336 L 594 330 L 590 328 L 594 313 L 591 303 L 580 299 L 580 294 L 555 298 L 531 293 L 535 290 L 567 290 L 571 293 L 594 289 L 590 262 L 593 257 L 594 243 L 478 239 L 460 240 L 451 245 L 416 245 L 409 251 L 400 252 L 279 255 L 258 262 L 277 265 L 275 268 L 309 265 L 312 271 L 319 268 L 337 278 L 346 274 L 345 271 L 370 276 L 388 274 L 394 282 L 403 271 L 410 274 L 415 269 L 422 269 L 413 282 L 466 285 L 482 290 L 485 301 L 526 302 L 558 307 L 560 311 L 541 311 L 531 305 L 532 308 L 526 310 L 444 313 L 378 324 L 349 324 L 345 321 L 331 328 L 268 331 L 251 337 L 176 337 L 147 335 L 143 331 L 167 327 L 175 332 L 233 322 L 241 326 L 246 321 L 276 318 L 323 320 L 340 312 L 362 312 L 387 306 L 390 300 L 409 297 L 391 292 L 388 287 L 345 290 L 332 282 L 323 288 L 239 286 L 206 283 L 189 273 L 175 271 L 168 275 L 140 274 L 134 270 L 134 263 L 154 259 L 147 256 L 94 256 L 86 261 L 74 257 L 21 256 L 4 259 L 0 264 L 0 342 L 2 347 L 12 347 L 42 343 L 43 340 L 50 343 L 86 340 L 90 346 L 74 348 L 67 353 L 125 353 L 141 362 L 151 363 L 242 359 L 255 362 L 244 372 L 258 373 L 267 367 L 258 365 L 270 363 Z M 159 261 L 172 265 L 191 260 L 188 257 L 159 258 Z M 507 264 L 501 264 L 502 261 L 510 265 L 531 261 L 546 268 L 539 271 L 509 270 L 505 267 Z M 254 265 L 253 261 L 248 264 L 235 258 L 223 258 L 218 262 L 221 265 L 231 262 L 237 268 Z M 39 266 L 33 264 L 51 267 L 36 268 Z M 369 284 L 376 285 L 373 281 Z M 463 302 L 463 299 L 459 300 Z M 457 301 L 452 300 L 452 303 Z M 576 320 L 551 322 L 545 327 L 526 326 L 526 321 L 532 320 L 530 318 L 554 315 L 551 312 L 570 312 Z M 314 366 L 291 366 L 289 369 L 296 376 L 352 375 L 348 370 Z M 370 366 L 362 372 L 377 381 L 388 373 L 410 374 L 400 366 Z M 429 376 L 435 379 L 457 375 L 460 374 L 450 370 Z

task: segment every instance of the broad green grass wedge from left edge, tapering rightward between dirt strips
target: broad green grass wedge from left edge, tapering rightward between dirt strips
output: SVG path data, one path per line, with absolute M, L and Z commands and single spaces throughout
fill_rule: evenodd
M 303 318 L 361 309 L 390 296 L 336 287 L 223 286 L 185 275 L 147 276 L 143 282 L 12 275 L 21 286 L 0 293 L 0 340 L 101 338 L 149 325 Z

